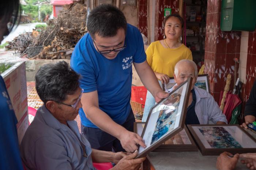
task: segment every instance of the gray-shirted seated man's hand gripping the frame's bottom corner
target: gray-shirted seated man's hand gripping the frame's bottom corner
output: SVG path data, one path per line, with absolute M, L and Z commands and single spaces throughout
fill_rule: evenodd
M 146 157 L 134 159 L 138 155 L 138 150 L 123 157 L 112 170 L 138 170 Z

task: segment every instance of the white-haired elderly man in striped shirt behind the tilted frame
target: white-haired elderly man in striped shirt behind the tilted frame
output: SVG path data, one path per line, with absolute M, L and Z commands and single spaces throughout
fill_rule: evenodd
M 188 77 L 193 78 L 191 92 L 189 94 L 187 116 L 185 124 L 226 124 L 227 118 L 222 113 L 217 102 L 206 90 L 195 86 L 197 79 L 197 66 L 191 60 L 180 60 L 174 67 L 174 90 L 185 82 Z M 148 115 L 143 115 L 142 120 L 147 120 Z

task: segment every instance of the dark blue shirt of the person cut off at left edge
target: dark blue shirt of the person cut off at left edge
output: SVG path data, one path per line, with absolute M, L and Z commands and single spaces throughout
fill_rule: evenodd
M 1 75 L 0 110 L 0 169 L 23 170 L 16 129 L 17 119 Z

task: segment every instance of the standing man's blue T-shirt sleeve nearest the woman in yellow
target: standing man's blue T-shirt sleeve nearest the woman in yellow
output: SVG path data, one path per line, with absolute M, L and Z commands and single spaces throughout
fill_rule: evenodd
M 147 59 L 147 56 L 144 50 L 142 35 L 139 32 L 138 28 L 135 28 L 135 31 L 136 31 L 135 35 L 136 35 L 137 49 L 134 54 L 133 62 L 142 63 Z

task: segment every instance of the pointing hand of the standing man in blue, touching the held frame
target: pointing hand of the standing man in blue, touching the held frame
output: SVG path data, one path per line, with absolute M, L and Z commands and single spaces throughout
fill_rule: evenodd
M 134 152 L 138 149 L 138 145 L 146 147 L 143 139 L 136 133 L 130 132 L 128 130 L 121 133 L 120 138 L 121 145 L 127 152 Z

